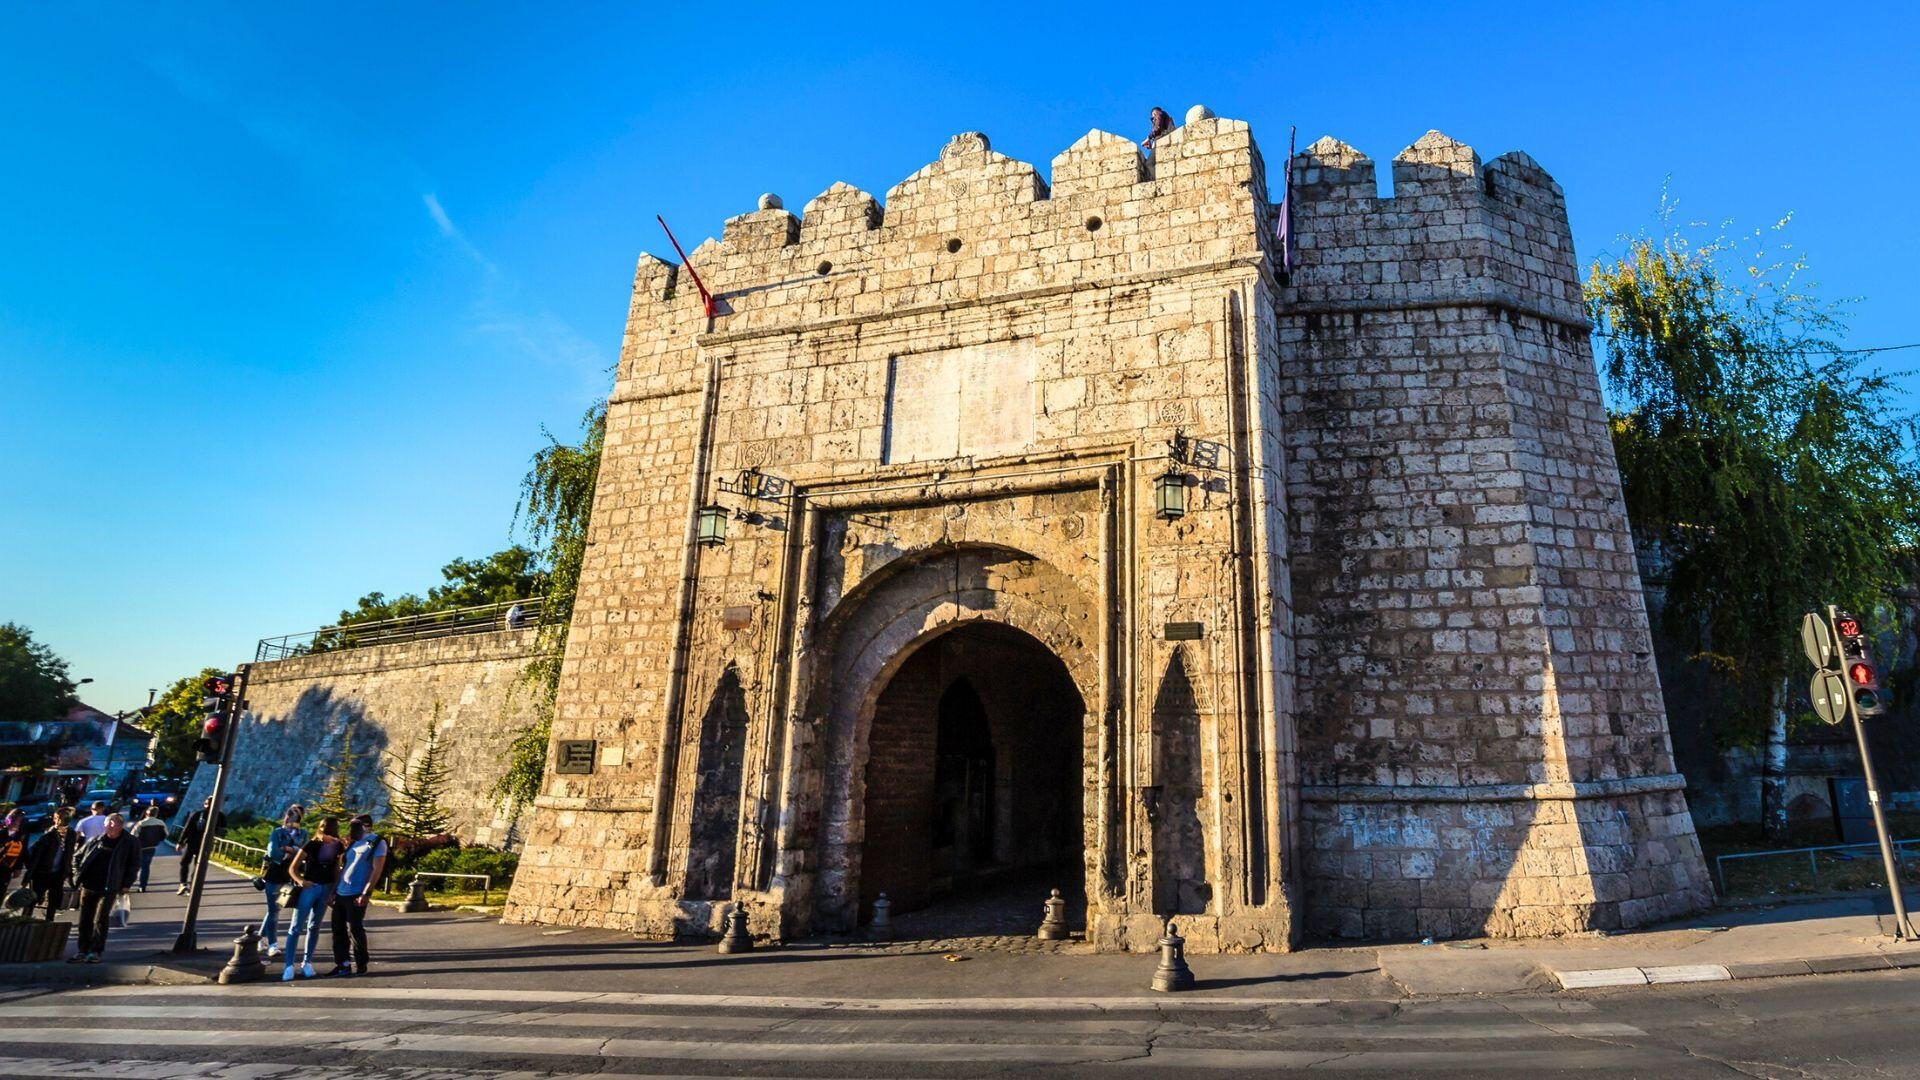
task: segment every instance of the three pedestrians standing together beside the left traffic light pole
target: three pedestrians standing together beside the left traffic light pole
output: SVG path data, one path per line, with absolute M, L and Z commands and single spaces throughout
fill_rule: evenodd
M 372 815 L 355 815 L 344 838 L 334 817 L 323 817 L 311 836 L 303 819 L 303 807 L 286 807 L 280 826 L 267 836 L 261 874 L 253 878 L 267 894 L 267 915 L 259 920 L 267 959 L 284 963 L 282 982 L 313 978 L 321 915 L 330 913 L 334 967 L 323 974 L 367 974 L 367 903 L 386 871 L 386 840 L 374 832 Z M 282 909 L 292 913 L 286 944 L 278 940 Z

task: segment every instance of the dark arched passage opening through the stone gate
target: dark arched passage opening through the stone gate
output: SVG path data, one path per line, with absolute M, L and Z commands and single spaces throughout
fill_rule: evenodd
M 972 621 L 918 642 L 874 700 L 860 909 L 1027 884 L 1079 899 L 1085 724 L 1068 667 L 1023 630 Z M 1020 917 L 1043 896 L 1020 894 Z

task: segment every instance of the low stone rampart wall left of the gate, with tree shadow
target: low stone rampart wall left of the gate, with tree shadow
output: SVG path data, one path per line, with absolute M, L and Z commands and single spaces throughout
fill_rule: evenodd
M 353 805 L 382 817 L 382 776 L 419 761 L 428 724 L 438 724 L 455 834 L 468 844 L 515 846 L 513 822 L 501 817 L 492 788 L 505 773 L 513 732 L 532 719 L 526 690 L 515 694 L 532 657 L 534 630 L 497 630 L 255 663 L 225 805 L 269 819 L 292 801 L 311 805 L 351 724 L 361 755 Z M 202 765 L 180 821 L 211 792 L 213 769 Z

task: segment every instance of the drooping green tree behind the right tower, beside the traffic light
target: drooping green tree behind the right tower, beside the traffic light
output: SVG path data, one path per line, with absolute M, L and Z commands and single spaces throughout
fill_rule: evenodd
M 1843 311 L 1805 271 L 1668 233 L 1586 281 L 1628 517 L 1670 563 L 1665 630 L 1722 680 L 1718 740 L 1766 748 L 1770 838 L 1786 830 L 1788 711 L 1807 673 L 1799 619 L 1878 611 L 1920 523 L 1912 419 L 1839 348 Z

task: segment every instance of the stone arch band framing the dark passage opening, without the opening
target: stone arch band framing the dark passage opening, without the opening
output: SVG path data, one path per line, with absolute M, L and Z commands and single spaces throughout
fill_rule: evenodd
M 866 769 L 874 707 L 895 673 L 927 642 L 954 628 L 996 623 L 1050 651 L 1079 692 L 1083 782 L 1092 805 L 1100 701 L 1098 619 L 1089 592 L 1052 563 L 991 546 L 943 546 L 885 569 L 835 613 L 824 634 L 833 657 L 818 698 L 826 715 L 824 828 L 816 919 L 828 928 L 858 920 L 860 853 L 866 840 Z M 1087 815 L 1085 851 L 1100 849 L 1096 815 Z M 1092 882 L 1089 880 L 1089 896 Z

